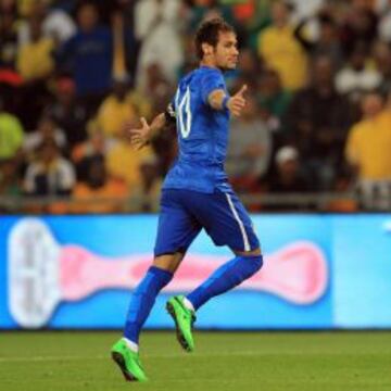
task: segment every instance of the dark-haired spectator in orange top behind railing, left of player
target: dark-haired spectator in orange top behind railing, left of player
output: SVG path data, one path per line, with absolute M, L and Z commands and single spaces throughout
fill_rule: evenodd
M 108 176 L 102 156 L 89 157 L 85 181 L 76 184 L 71 211 L 74 213 L 117 213 L 124 211 L 128 197 L 123 181 Z

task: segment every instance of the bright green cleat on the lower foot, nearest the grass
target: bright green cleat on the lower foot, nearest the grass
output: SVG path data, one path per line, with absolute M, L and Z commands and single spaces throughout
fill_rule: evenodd
M 111 354 L 127 381 L 148 380 L 139 354 L 129 349 L 123 339 L 113 345 Z

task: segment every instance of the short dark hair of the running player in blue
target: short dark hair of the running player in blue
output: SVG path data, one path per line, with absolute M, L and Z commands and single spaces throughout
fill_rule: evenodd
M 205 21 L 200 25 L 194 39 L 195 52 L 200 60 L 202 60 L 204 55 L 202 43 L 209 43 L 215 48 L 218 42 L 219 33 L 235 33 L 235 29 L 220 17 Z

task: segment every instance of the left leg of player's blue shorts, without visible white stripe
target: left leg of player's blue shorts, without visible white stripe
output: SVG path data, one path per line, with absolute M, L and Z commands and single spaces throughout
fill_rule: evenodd
M 185 254 L 201 230 L 198 220 L 184 207 L 179 190 L 163 190 L 155 258 L 165 254 Z

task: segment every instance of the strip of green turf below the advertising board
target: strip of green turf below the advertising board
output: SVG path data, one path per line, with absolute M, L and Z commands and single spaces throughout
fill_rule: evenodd
M 109 357 L 118 332 L 3 332 L 0 390 L 391 390 L 391 332 L 147 332 L 149 383 L 127 383 Z

